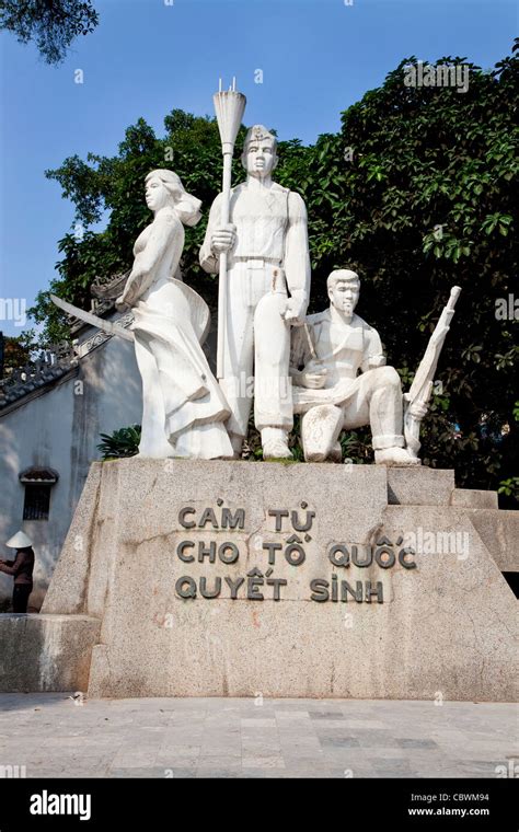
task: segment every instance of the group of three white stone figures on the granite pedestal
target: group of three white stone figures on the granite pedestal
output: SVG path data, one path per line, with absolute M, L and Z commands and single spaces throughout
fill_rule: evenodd
M 418 464 L 404 439 L 399 374 L 385 366 L 377 331 L 355 313 L 358 275 L 333 271 L 330 308 L 307 317 L 307 209 L 299 194 L 273 182 L 275 136 L 252 127 L 242 163 L 246 180 L 230 192 L 230 221 L 221 220 L 220 194 L 200 250 L 208 273 L 218 273 L 227 252 L 218 380 L 201 349 L 209 310 L 178 268 L 183 226 L 198 222 L 200 201 L 172 171 L 146 177 L 154 217 L 135 243 L 134 266 L 117 299 L 117 308 L 135 316 L 143 389 L 139 455 L 239 458 L 254 394 L 265 459 L 291 457 L 293 415 L 302 414 L 307 461 L 341 461 L 341 432 L 370 425 L 377 463 Z M 423 417 L 424 405 L 411 406 Z

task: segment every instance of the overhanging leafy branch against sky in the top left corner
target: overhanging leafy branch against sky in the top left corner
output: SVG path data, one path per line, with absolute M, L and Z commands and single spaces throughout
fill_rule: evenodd
M 0 30 L 34 41 L 47 63 L 61 63 L 72 41 L 99 23 L 90 0 L 0 0 Z

